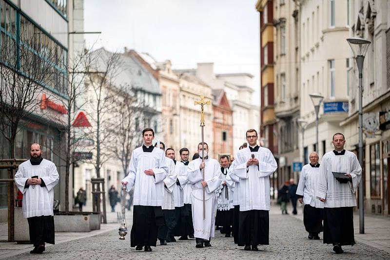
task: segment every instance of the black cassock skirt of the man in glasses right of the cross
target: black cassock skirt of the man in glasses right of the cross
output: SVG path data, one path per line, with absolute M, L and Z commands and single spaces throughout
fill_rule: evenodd
M 270 219 L 268 210 L 240 211 L 238 245 L 268 245 Z

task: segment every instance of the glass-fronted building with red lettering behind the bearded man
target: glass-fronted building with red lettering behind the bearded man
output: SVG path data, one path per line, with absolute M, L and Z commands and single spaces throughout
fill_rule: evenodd
M 65 108 L 62 106 L 62 100 L 67 98 L 65 95 L 65 90 L 68 87 L 66 67 L 68 51 L 73 44 L 73 41 L 68 38 L 68 32 L 74 24 L 74 20 L 69 14 L 73 10 L 72 1 L 0 0 L 0 62 L 1 66 L 4 66 L 2 71 L 12 67 L 14 71 L 18 72 L 18 77 L 26 75 L 26 79 L 31 79 L 34 72 L 31 66 L 25 67 L 29 64 L 27 57 L 35 55 L 36 59 L 45 58 L 51 61 L 52 73 L 47 74 L 51 75 L 50 79 L 39 81 L 44 83 L 40 84 L 41 88 L 33 94 L 36 96 L 36 107 L 33 108 L 32 113 L 30 110 L 28 116 L 19 122 L 14 153 L 15 158 L 29 159 L 30 145 L 34 142 L 42 144 L 42 157 L 53 161 L 58 166 L 60 180 L 54 188 L 54 199 L 60 201 L 59 210 L 65 209 L 65 174 L 63 167 L 60 166 L 63 165 L 62 159 L 64 158 L 64 136 L 61 129 L 63 129 L 65 122 Z M 28 44 L 29 48 L 22 48 L 22 42 Z M 9 56 L 11 52 L 5 43 L 11 44 L 8 47 L 12 46 L 16 50 L 12 57 Z M 48 50 L 50 50 L 50 54 L 48 54 Z M 5 55 L 8 55 L 7 58 Z M 13 63 L 12 60 L 15 60 L 16 63 Z M 7 63 L 7 61 L 11 61 L 11 63 Z M 13 67 L 13 64 L 17 64 L 17 66 Z M 25 73 L 28 70 L 30 70 L 28 73 L 31 74 Z M 12 84 L 3 80 L 2 84 Z M 42 100 L 46 99 L 49 101 L 42 104 Z M 0 143 L 1 147 L 4 148 L 0 157 L 9 158 L 9 146 L 2 135 Z M 0 175 L 1 178 L 6 178 L 7 172 L 2 170 Z M 71 189 L 70 185 L 70 194 Z M 2 183 L 0 184 L 0 208 L 6 207 L 7 185 Z

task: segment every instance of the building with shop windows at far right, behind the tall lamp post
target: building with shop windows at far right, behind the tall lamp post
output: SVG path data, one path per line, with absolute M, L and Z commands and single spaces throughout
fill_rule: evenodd
M 364 181 L 365 210 L 389 215 L 390 6 L 388 1 L 348 2 L 349 37 L 371 42 L 363 67 L 364 176 L 361 181 Z M 348 51 L 350 59 L 344 74 L 348 80 L 350 110 L 340 125 L 344 128 L 347 149 L 358 154 L 358 70 L 351 49 Z

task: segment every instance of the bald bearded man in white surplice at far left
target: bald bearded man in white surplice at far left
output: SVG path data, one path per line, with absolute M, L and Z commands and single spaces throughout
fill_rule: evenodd
M 23 193 L 23 217 L 28 221 L 30 241 L 34 249 L 30 254 L 45 251 L 45 242 L 54 244 L 54 186 L 59 181 L 56 165 L 42 157 L 42 147 L 33 143 L 30 160 L 19 165 L 15 182 Z

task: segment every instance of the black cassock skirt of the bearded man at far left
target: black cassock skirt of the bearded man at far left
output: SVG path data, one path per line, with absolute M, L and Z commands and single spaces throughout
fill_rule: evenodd
M 54 217 L 39 216 L 27 218 L 30 241 L 34 246 L 44 245 L 45 242 L 54 244 Z

